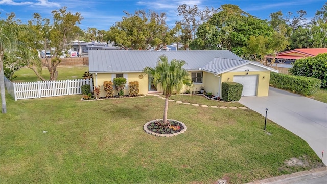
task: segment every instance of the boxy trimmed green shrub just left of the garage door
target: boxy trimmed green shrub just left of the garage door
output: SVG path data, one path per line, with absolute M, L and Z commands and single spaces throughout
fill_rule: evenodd
M 223 82 L 221 96 L 224 101 L 239 101 L 242 96 L 243 85 L 237 82 Z

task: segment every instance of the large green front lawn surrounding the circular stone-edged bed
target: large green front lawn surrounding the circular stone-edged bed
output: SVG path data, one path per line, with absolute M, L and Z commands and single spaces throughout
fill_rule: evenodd
M 252 110 L 169 102 L 168 118 L 188 130 L 155 137 L 143 125 L 162 118 L 164 100 L 80 99 L 14 101 L 7 94 L 8 113 L 0 114 L 1 183 L 246 183 L 321 166 L 293 133 L 268 121 L 267 135 L 264 117 Z M 285 166 L 292 157 L 306 157 L 310 166 Z

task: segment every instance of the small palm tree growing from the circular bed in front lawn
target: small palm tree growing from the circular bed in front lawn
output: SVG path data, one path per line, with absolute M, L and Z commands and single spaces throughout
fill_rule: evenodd
M 164 125 L 168 125 L 167 112 L 168 100 L 173 93 L 180 93 L 184 85 L 192 87 L 193 82 L 189 78 L 189 73 L 184 68 L 186 64 L 183 60 L 173 59 L 170 63 L 165 55 L 159 56 L 159 60 L 154 68 L 145 67 L 143 73 L 153 78 L 155 86 L 161 85 L 162 93 L 165 95 Z

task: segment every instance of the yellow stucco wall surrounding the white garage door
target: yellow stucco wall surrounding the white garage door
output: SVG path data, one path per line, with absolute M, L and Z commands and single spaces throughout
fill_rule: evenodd
M 232 82 L 235 75 L 245 75 L 245 74 L 246 72 L 226 72 L 221 75 L 222 76 L 221 82 L 227 82 L 227 81 Z M 268 96 L 270 71 L 253 71 L 253 72 L 249 71 L 248 75 L 258 75 L 256 96 L 258 97 Z

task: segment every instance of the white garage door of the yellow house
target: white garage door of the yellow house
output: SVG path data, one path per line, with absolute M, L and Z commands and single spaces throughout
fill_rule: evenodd
M 243 84 L 242 96 L 256 96 L 258 75 L 237 75 L 234 76 L 234 82 Z

